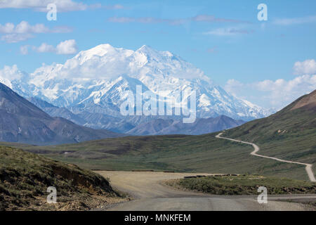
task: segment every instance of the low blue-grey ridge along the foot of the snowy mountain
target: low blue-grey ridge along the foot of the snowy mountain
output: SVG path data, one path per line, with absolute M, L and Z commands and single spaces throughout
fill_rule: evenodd
M 125 119 L 118 119 L 115 117 L 105 116 L 100 113 L 80 113 L 75 115 L 67 110 L 67 108 L 58 108 L 39 98 L 28 98 L 34 105 L 37 105 L 41 110 L 54 117 L 64 117 L 74 123 L 84 126 L 91 126 L 87 121 L 93 124 L 103 124 L 104 129 L 117 131 L 130 135 L 162 135 L 162 134 L 207 134 L 223 129 L 230 129 L 244 124 L 243 120 L 234 120 L 230 117 L 221 115 L 219 117 L 211 118 L 197 118 L 194 123 L 184 124 L 182 120 L 176 120 L 172 117 L 129 117 Z M 85 119 L 84 119 L 85 118 Z M 140 119 L 140 120 L 138 120 Z

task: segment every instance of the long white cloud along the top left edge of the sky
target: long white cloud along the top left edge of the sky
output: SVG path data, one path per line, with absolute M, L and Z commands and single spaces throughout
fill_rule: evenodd
M 58 12 L 85 11 L 87 9 L 105 8 L 121 9 L 123 6 L 116 4 L 113 6 L 102 6 L 101 4 L 87 5 L 82 2 L 72 0 L 1 0 L 0 8 L 32 8 L 34 11 L 47 12 L 47 5 L 54 3 Z

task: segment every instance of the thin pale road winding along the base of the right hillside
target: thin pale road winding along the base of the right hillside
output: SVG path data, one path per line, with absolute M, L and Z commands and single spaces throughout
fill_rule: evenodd
M 246 141 L 239 141 L 239 140 L 236 140 L 236 139 L 224 138 L 223 136 L 221 136 L 222 134 L 223 133 L 220 133 L 220 134 L 216 135 L 216 138 L 218 138 L 218 139 L 227 139 L 227 140 L 230 140 L 230 141 L 237 141 L 237 142 L 240 142 L 240 143 L 246 143 L 246 144 L 249 144 L 249 145 L 253 146 L 254 147 L 254 151 L 252 151 L 250 153 L 250 155 L 255 155 L 255 156 L 258 156 L 258 157 L 261 157 L 261 158 L 268 158 L 268 159 L 271 159 L 271 160 L 277 160 L 279 162 L 288 162 L 288 163 L 294 163 L 294 164 L 298 164 L 298 165 L 305 165 L 305 170 L 306 170 L 306 172 L 308 174 L 308 178 L 310 179 L 310 181 L 316 182 L 315 176 L 314 176 L 314 174 L 312 172 L 312 165 L 311 164 L 303 163 L 303 162 L 294 162 L 294 161 L 289 161 L 289 160 L 281 160 L 281 159 L 270 157 L 270 156 L 259 155 L 257 153 L 260 150 L 260 148 L 255 143 L 250 143 L 250 142 L 246 142 Z

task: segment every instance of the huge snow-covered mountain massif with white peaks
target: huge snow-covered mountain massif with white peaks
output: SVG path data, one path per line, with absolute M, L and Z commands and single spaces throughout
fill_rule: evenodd
M 41 98 L 74 114 L 124 118 L 119 112 L 121 97 L 125 91 L 136 94 L 136 85 L 141 85 L 143 92 L 164 97 L 164 101 L 181 91 L 185 95 L 196 91 L 197 117 L 226 115 L 251 120 L 269 114 L 268 110 L 232 96 L 179 56 L 149 46 L 133 51 L 101 44 L 79 52 L 64 64 L 43 65 L 29 75 L 16 73 L 19 75 L 12 79 L 0 75 L 0 82 L 3 80 L 26 98 Z

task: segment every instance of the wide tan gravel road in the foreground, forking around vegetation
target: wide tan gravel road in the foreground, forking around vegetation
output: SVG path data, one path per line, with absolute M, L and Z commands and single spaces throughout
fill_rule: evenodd
M 163 181 L 184 176 L 211 175 L 166 172 L 96 171 L 110 178 L 119 191 L 129 193 L 135 200 L 112 205 L 103 210 L 114 211 L 247 211 L 247 210 L 313 210 L 300 203 L 279 200 L 316 200 L 316 195 L 268 195 L 267 204 L 259 204 L 257 195 L 208 195 L 180 191 Z

